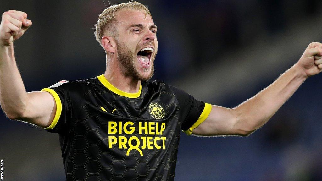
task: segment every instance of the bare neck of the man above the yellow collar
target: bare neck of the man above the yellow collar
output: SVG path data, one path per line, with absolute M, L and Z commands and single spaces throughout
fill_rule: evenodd
M 114 87 L 122 90 L 123 92 L 137 93 L 140 89 L 141 81 L 134 79 L 133 77 L 123 75 L 117 61 L 109 62 L 106 67 L 104 77 Z

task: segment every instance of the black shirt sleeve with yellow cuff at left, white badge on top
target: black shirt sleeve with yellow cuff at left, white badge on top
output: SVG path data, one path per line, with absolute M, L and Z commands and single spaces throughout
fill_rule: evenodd
M 71 118 L 71 100 L 69 95 L 69 81 L 60 81 L 49 88 L 44 88 L 41 91 L 49 92 L 56 103 L 56 113 L 52 123 L 46 131 L 51 133 L 63 132 L 68 130 L 69 121 Z

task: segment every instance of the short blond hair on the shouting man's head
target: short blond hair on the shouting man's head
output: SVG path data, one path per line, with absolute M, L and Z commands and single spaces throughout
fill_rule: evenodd
M 127 3 L 122 4 L 115 3 L 114 5 L 109 6 L 101 14 L 99 14 L 99 20 L 94 25 L 96 41 L 98 41 L 102 47 L 103 45 L 101 43 L 101 39 L 104 36 L 106 30 L 111 31 L 111 33 L 115 36 L 117 35 L 116 29 L 114 28 L 116 21 L 115 13 L 123 9 L 139 10 L 142 11 L 145 14 L 145 16 L 151 16 L 148 7 L 136 1 L 129 1 Z

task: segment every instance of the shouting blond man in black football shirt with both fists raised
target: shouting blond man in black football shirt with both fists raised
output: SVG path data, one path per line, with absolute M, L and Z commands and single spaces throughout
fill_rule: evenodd
M 173 180 L 180 132 L 248 136 L 265 124 L 309 76 L 322 70 L 322 44 L 311 43 L 274 83 L 233 109 L 195 100 L 153 75 L 157 27 L 135 1 L 99 15 L 96 39 L 106 71 L 27 92 L 13 42 L 31 26 L 9 10 L 0 25 L 0 103 L 10 119 L 59 133 L 66 180 Z M 10 80 L 10 81 L 9 81 Z

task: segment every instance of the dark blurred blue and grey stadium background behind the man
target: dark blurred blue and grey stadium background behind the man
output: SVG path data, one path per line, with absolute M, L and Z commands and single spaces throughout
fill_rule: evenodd
M 140 2 L 158 26 L 151 81 L 215 105 L 235 107 L 251 98 L 296 63 L 310 42 L 322 40 L 318 0 Z M 14 43 L 27 91 L 104 73 L 105 52 L 93 27 L 105 8 L 102 0 L 0 1 L 1 14 L 20 10 L 33 22 Z M 249 137 L 182 134 L 175 180 L 322 180 L 321 88 L 322 75 L 309 78 Z M 5 180 L 65 179 L 57 134 L 2 112 L 0 119 Z

